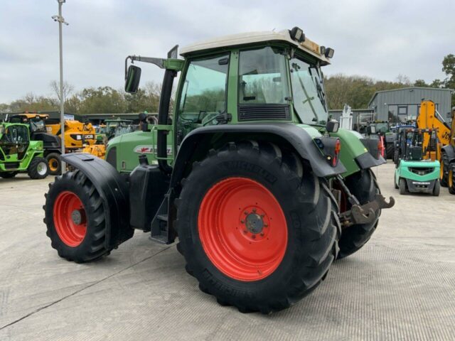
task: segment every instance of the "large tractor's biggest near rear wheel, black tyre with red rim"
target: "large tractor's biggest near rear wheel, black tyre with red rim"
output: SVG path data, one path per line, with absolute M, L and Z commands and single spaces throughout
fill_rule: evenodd
M 325 180 L 269 143 L 230 143 L 183 181 L 178 250 L 200 289 L 241 312 L 289 307 L 325 278 L 338 252 Z

